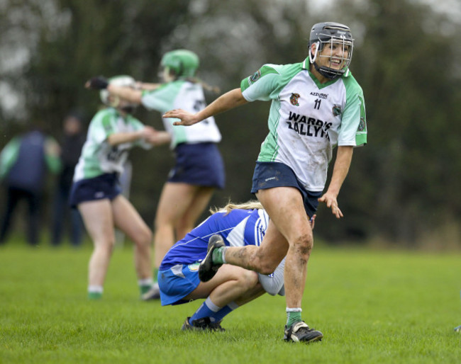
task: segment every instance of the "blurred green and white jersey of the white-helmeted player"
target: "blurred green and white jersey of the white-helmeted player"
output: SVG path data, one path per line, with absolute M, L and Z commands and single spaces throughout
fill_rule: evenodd
M 143 123 L 131 115 L 123 118 L 115 108 L 105 108 L 96 113 L 89 123 L 87 141 L 75 166 L 74 181 L 113 172 L 121 174 L 129 149 L 135 146 L 149 149 L 152 145 L 138 140 L 111 146 L 107 138 L 118 132 L 135 132 L 144 127 Z

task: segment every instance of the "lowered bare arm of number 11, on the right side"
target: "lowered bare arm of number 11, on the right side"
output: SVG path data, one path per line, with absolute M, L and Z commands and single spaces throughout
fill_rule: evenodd
M 348 175 L 350 162 L 352 161 L 352 151 L 353 147 L 351 146 L 338 147 L 330 186 L 328 186 L 326 193 L 318 199 L 319 202 L 326 203 L 326 207 L 331 208 L 331 212 L 337 219 L 343 217 L 343 212 L 338 207 L 337 198 L 345 177 Z

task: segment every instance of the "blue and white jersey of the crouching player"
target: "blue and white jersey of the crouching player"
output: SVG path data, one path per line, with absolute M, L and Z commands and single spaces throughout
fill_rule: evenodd
M 269 215 L 265 210 L 216 212 L 172 246 L 163 258 L 160 271 L 178 264 L 187 266 L 203 260 L 213 234 L 220 234 L 226 246 L 259 246 L 268 224 Z

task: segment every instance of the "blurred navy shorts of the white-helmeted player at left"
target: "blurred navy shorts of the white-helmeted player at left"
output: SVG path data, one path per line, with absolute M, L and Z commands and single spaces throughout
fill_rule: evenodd
M 94 178 L 85 178 L 72 184 L 69 205 L 77 207 L 79 203 L 94 200 L 113 200 L 121 193 L 118 174 L 101 174 Z

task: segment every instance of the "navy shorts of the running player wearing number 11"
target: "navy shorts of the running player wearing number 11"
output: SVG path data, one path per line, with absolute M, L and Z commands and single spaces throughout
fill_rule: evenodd
M 321 197 L 322 191 L 312 192 L 306 190 L 301 184 L 294 171 L 287 166 L 276 161 L 257 161 L 255 173 L 253 174 L 253 184 L 251 193 L 257 193 L 258 190 L 265 190 L 274 187 L 294 187 L 298 188 L 303 196 L 304 210 L 307 215 L 312 217 L 318 207 L 318 198 Z

